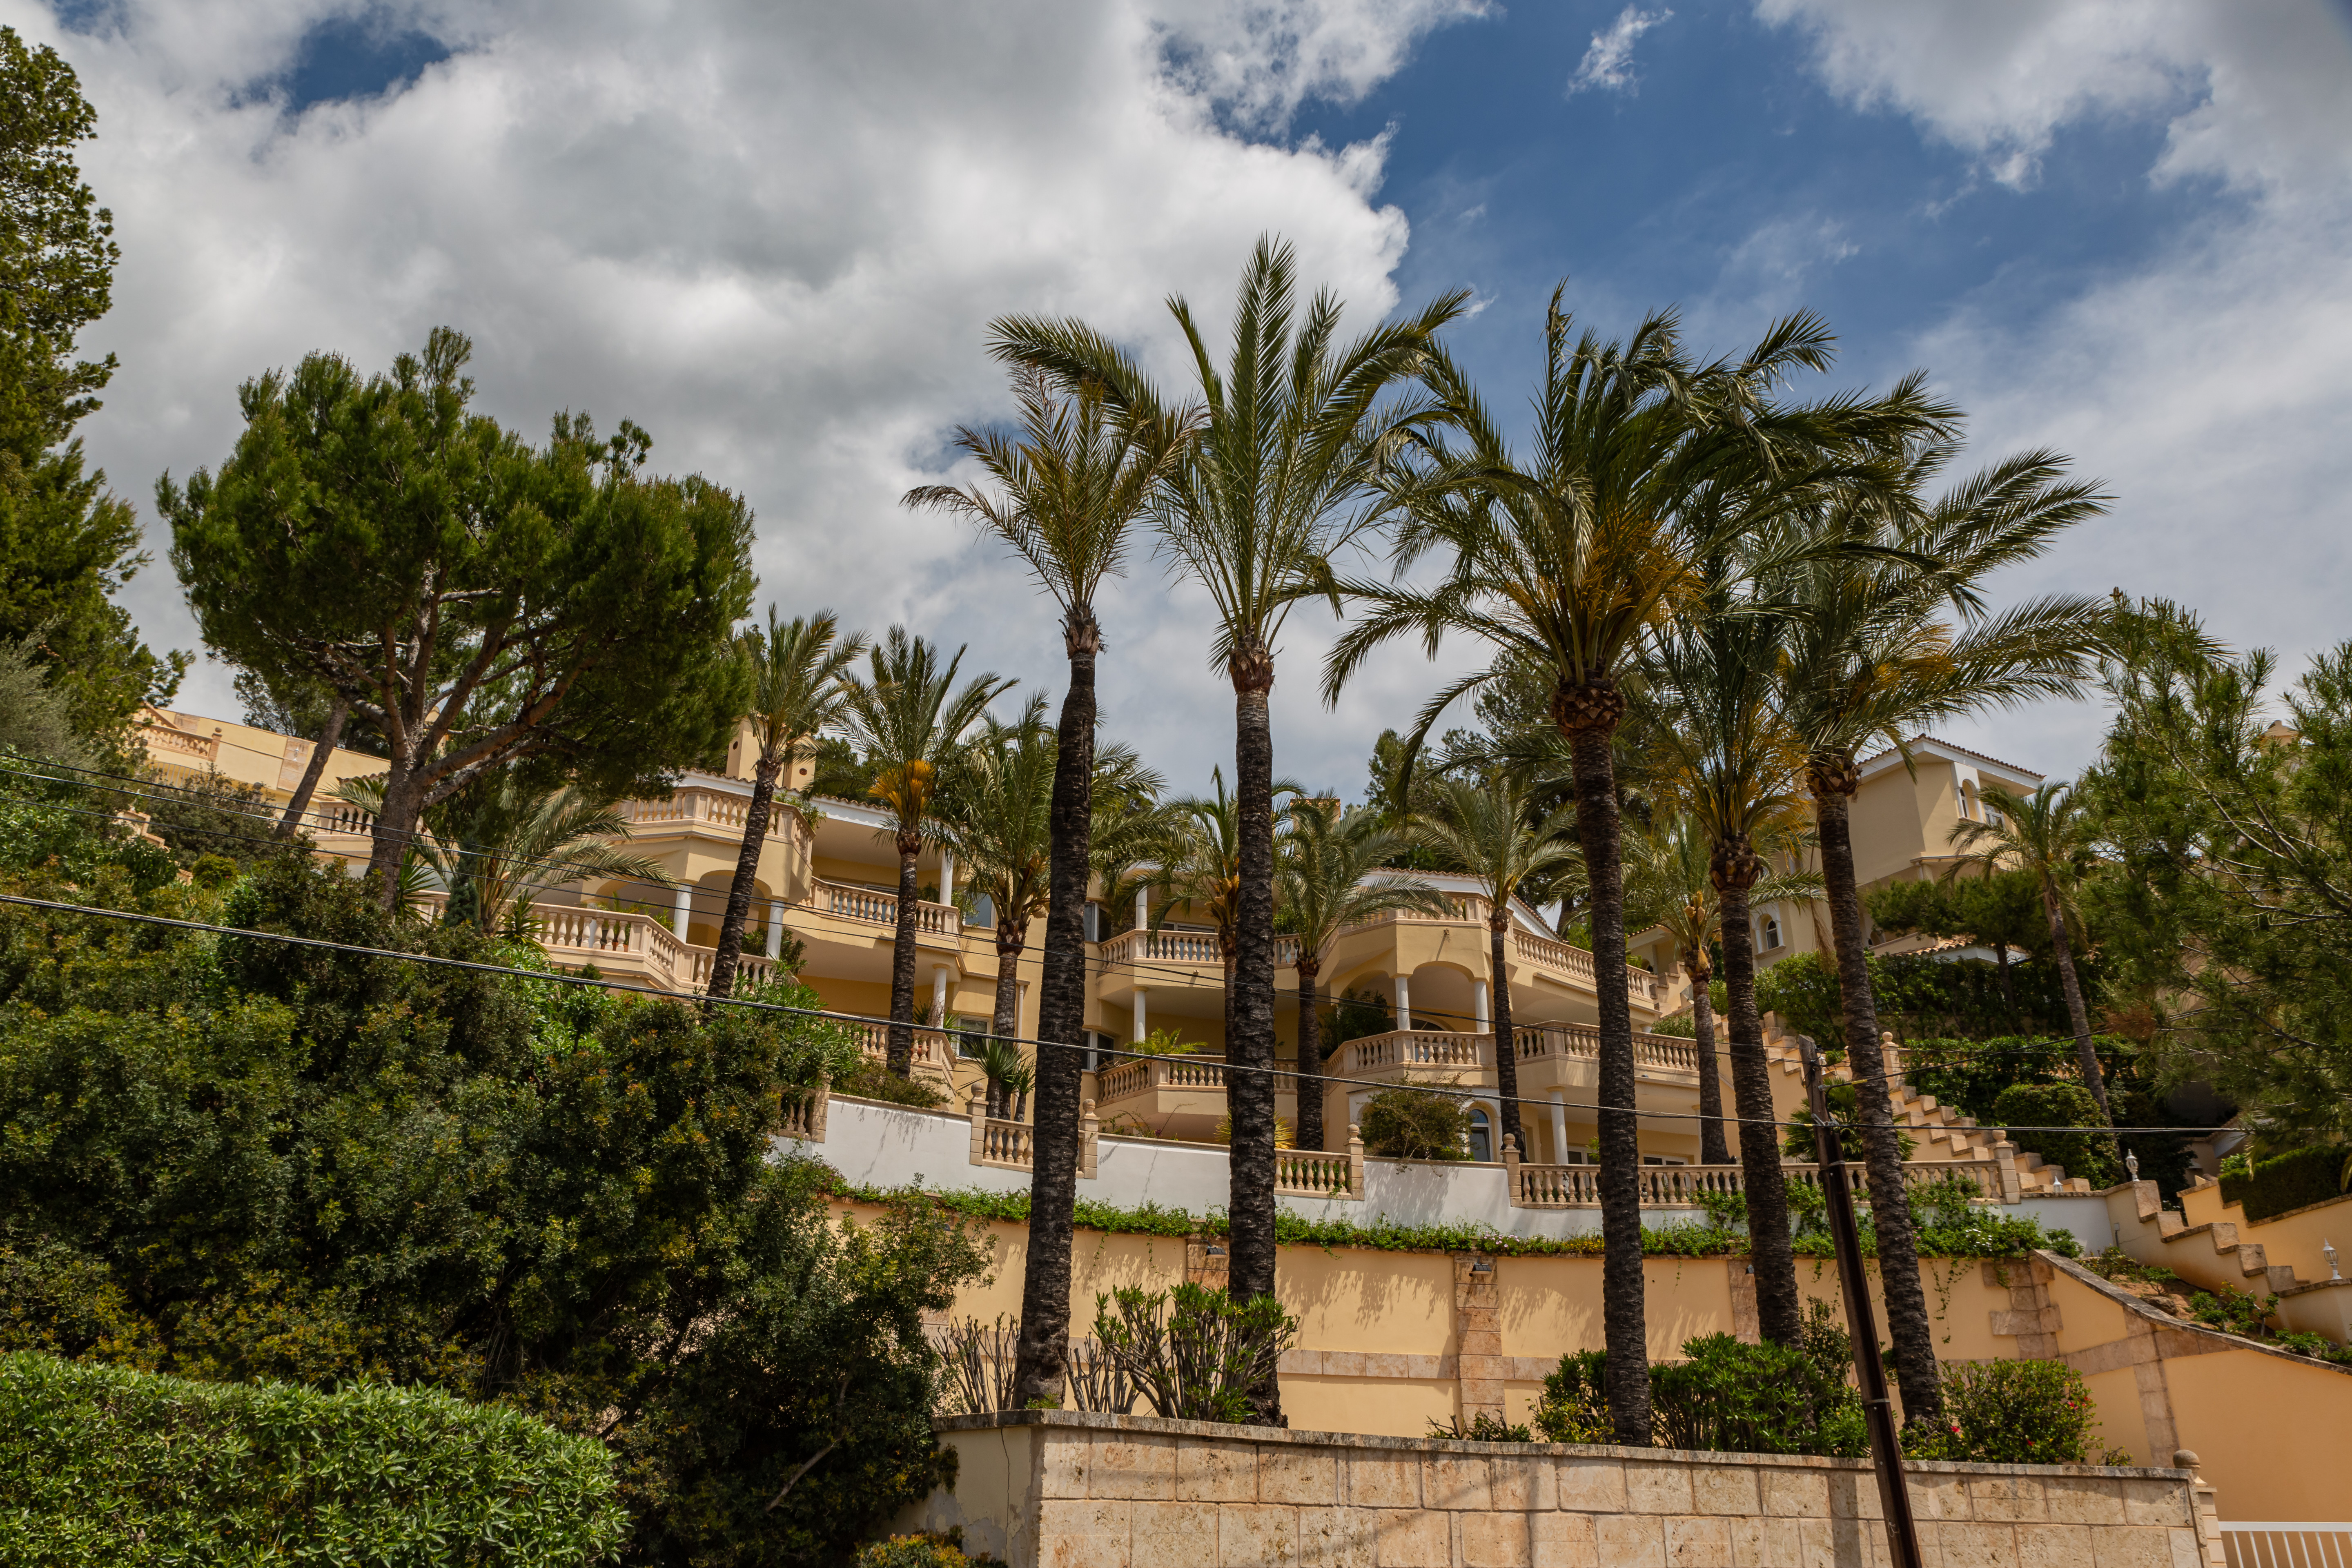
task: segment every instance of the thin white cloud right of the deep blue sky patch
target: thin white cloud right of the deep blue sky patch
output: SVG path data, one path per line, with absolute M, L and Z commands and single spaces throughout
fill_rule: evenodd
M 2051 308 L 1994 280 L 1907 346 L 1976 414 L 1980 454 L 2058 447 L 2117 494 L 2013 592 L 2169 595 L 2291 663 L 2352 635 L 2352 35 L 2324 0 L 1757 0 L 1823 80 L 1915 118 L 2011 183 L 2072 125 L 2161 125 L 2147 179 L 2213 181 L 2145 259 Z M 2192 193 L 2194 195 L 2194 193 Z M 2098 724 L 2046 708 L 1959 726 L 2051 771 Z

